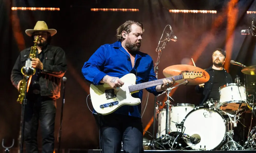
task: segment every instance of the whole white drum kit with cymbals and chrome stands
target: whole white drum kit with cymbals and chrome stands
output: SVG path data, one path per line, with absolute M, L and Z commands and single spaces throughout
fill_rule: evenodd
M 174 65 L 163 70 L 165 77 L 178 75 L 183 71 L 204 72 L 205 77 L 179 80 L 178 85 L 199 85 L 206 83 L 209 74 L 191 65 Z M 245 67 L 242 73 L 254 75 L 256 66 Z M 253 103 L 249 102 L 246 86 L 239 77 L 235 83 L 219 87 L 219 100 L 208 100 L 203 106 L 179 103 L 173 104 L 170 91 L 178 85 L 168 88 L 165 108 L 156 107 L 158 122 L 156 139 L 147 143 L 157 150 L 245 150 L 256 148 L 256 127 L 253 127 L 244 144 L 233 140 L 234 128 L 240 122 L 241 114 L 249 108 L 252 113 Z M 164 94 L 163 93 L 163 94 Z M 255 93 L 255 92 L 254 92 Z M 159 96 L 159 95 L 158 95 Z M 251 100 L 254 100 L 254 96 Z M 174 100 L 173 100 L 174 101 Z

